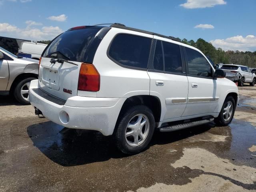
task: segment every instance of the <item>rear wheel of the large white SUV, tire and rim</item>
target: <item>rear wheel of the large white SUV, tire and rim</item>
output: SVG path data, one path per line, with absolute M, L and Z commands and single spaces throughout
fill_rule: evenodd
M 145 124 L 139 126 L 138 122 L 140 124 L 145 122 Z M 130 124 L 129 127 L 128 124 Z M 155 118 L 150 108 L 144 105 L 133 106 L 118 118 L 113 133 L 115 144 L 125 154 L 139 153 L 148 146 L 154 134 L 154 128 Z M 130 136 L 126 136 L 126 133 L 130 133 Z

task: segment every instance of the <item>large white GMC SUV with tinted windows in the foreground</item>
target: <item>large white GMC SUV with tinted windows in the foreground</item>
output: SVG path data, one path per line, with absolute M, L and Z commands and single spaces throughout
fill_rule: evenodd
M 122 24 L 60 34 L 30 84 L 36 114 L 62 126 L 112 135 L 124 153 L 148 146 L 154 130 L 228 125 L 238 88 L 200 50 Z

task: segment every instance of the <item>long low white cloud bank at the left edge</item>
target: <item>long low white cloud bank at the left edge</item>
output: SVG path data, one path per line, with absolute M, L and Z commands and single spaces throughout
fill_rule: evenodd
M 6 33 L 6 36 L 14 38 L 26 38 L 28 40 L 52 40 L 63 32 L 58 26 L 43 26 L 42 28 L 30 28 L 30 24 L 35 25 L 34 21 L 27 21 L 28 26 L 25 29 L 20 29 L 8 23 L 0 23 L 0 32 Z M 40 23 L 36 23 L 39 25 Z

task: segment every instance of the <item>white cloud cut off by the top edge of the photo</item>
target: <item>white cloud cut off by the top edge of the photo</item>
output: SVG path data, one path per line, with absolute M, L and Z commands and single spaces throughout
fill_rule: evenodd
M 186 3 L 180 4 L 180 6 L 187 9 L 195 9 L 195 8 L 206 8 L 206 7 L 214 7 L 215 5 L 225 5 L 227 2 L 224 0 L 187 0 Z

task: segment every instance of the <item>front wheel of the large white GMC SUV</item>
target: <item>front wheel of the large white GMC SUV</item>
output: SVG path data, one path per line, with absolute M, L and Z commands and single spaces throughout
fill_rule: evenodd
M 232 103 L 232 112 L 230 112 L 230 116 L 227 118 L 227 113 L 228 111 L 226 111 L 226 107 L 228 105 L 228 103 Z M 231 110 L 230 108 L 230 110 Z M 227 126 L 228 124 L 230 124 L 230 122 L 232 121 L 233 117 L 234 117 L 234 113 L 235 113 L 235 109 L 236 109 L 236 102 L 234 100 L 234 98 L 232 96 L 228 96 L 225 101 L 224 104 L 220 110 L 220 114 L 217 118 L 215 118 L 214 122 L 216 124 L 218 124 L 219 126 Z M 226 115 L 224 115 L 224 112 L 226 111 Z

